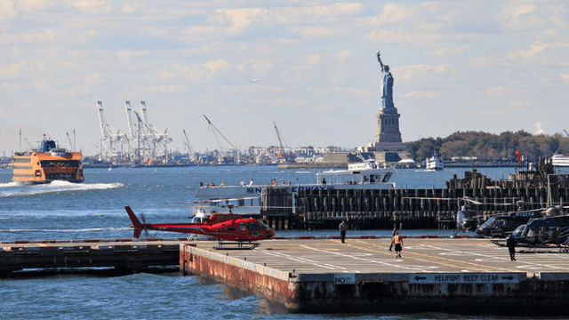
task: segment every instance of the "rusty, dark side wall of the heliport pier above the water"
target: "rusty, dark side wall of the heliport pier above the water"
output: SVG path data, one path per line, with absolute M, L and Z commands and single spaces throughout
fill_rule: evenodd
M 294 274 L 184 244 L 180 271 L 260 293 L 293 313 L 569 315 L 565 273 Z

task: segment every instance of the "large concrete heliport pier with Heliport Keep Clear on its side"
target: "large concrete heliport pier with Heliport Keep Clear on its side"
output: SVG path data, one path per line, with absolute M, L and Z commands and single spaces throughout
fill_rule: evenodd
M 506 316 L 569 315 L 569 255 L 517 253 L 483 239 L 270 240 L 252 251 L 180 245 L 180 269 L 299 313 L 438 311 Z M 213 244 L 214 245 L 214 244 Z

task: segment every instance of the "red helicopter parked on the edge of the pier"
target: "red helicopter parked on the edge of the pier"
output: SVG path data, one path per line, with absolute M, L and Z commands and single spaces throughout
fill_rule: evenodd
M 141 223 L 136 217 L 130 206 L 125 206 L 126 212 L 132 220 L 134 228 L 134 237 L 138 238 L 142 230 L 158 230 L 171 231 L 180 233 L 189 233 L 194 235 L 212 236 L 219 240 L 221 249 L 223 240 L 237 244 L 237 247 L 228 247 L 227 249 L 254 249 L 260 244 L 252 244 L 252 241 L 270 239 L 275 236 L 275 231 L 268 228 L 260 220 L 253 218 L 244 219 L 239 214 L 229 213 L 213 213 L 207 222 L 190 222 L 190 223 Z M 249 246 L 243 244 L 247 242 Z

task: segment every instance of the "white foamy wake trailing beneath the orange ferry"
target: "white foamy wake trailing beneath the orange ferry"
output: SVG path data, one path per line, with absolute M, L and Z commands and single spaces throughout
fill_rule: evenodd
M 124 187 L 122 183 L 72 183 L 52 181 L 52 183 L 27 185 L 16 182 L 0 183 L 0 197 L 34 196 L 54 192 L 106 190 Z

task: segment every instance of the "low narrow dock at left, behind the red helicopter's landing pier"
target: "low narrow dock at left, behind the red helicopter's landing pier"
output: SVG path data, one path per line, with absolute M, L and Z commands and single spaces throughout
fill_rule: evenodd
M 145 268 L 177 266 L 180 243 L 173 239 L 88 239 L 46 241 L 4 241 L 0 243 L 0 276 L 14 272 L 74 268 L 114 268 L 118 273 L 135 273 Z M 188 244 L 191 245 L 191 244 Z

